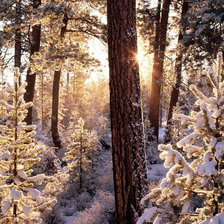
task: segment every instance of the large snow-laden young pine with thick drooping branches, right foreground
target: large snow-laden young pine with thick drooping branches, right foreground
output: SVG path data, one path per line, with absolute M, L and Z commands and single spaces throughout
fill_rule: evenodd
M 154 207 L 145 210 L 138 224 L 149 222 L 185 224 L 224 223 L 224 75 L 222 53 L 209 69 L 213 96 L 207 97 L 195 85 L 197 98 L 189 116 L 175 114 L 192 130 L 176 145 L 160 145 L 164 166 L 170 168 L 159 187 L 142 199 Z

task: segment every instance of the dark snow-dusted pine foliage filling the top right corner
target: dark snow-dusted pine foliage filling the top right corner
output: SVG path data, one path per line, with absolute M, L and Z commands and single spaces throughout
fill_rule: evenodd
M 223 7 L 222 0 L 189 1 L 187 32 L 184 45 L 187 47 L 185 64 L 200 67 L 203 59 L 215 59 L 223 44 Z M 191 63 L 192 64 L 192 63 Z

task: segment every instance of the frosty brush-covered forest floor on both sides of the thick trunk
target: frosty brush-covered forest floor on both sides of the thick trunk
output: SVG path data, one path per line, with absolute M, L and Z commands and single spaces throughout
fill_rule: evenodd
M 163 141 L 165 129 L 160 129 L 160 142 Z M 45 145 L 51 145 L 50 137 L 44 137 L 40 132 L 36 136 L 37 140 Z M 106 144 L 111 145 L 111 141 L 106 139 Z M 158 182 L 165 177 L 167 169 L 163 167 L 159 159 L 157 144 L 151 144 L 147 148 L 148 154 L 148 178 L 150 188 L 155 187 Z M 54 157 L 57 163 L 64 160 L 66 147 L 60 149 Z M 44 158 L 48 163 L 49 158 Z M 50 168 L 51 169 L 51 168 Z M 66 170 L 66 166 L 61 170 Z M 49 171 L 49 170 L 48 170 Z M 53 172 L 53 171 L 52 171 Z M 113 172 L 112 172 L 112 152 L 103 146 L 94 159 L 94 168 L 85 177 L 82 191 L 77 190 L 77 183 L 70 183 L 64 180 L 62 192 L 57 196 L 57 203 L 52 212 L 48 215 L 54 217 L 54 221 L 48 223 L 57 224 L 114 224 L 115 204 L 113 195 Z M 70 187 L 68 187 L 71 185 Z M 48 220 L 49 218 L 47 218 Z

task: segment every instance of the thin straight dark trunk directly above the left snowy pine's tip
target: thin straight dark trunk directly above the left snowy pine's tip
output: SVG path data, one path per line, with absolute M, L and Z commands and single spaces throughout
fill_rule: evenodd
M 16 30 L 15 30 L 15 55 L 14 65 L 15 67 L 21 67 L 21 56 L 22 56 L 22 36 L 21 36 L 21 24 L 22 24 L 22 12 L 21 12 L 21 0 L 16 2 Z M 21 77 L 19 77 L 19 84 L 21 84 Z

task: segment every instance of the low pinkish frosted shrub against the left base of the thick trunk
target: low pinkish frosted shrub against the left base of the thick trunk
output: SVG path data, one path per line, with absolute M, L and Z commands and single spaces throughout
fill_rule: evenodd
M 75 224 L 108 224 L 115 212 L 113 194 L 98 191 L 90 208 L 78 214 Z

